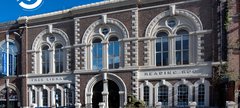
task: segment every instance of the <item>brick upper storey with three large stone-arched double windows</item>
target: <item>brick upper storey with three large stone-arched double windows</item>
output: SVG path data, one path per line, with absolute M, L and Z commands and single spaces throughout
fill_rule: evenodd
M 209 0 L 119 0 L 21 17 L 32 61 L 28 70 L 168 68 L 211 61 L 217 46 L 213 6 Z

